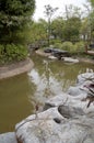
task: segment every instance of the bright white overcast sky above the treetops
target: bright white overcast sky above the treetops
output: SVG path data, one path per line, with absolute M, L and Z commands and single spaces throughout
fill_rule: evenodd
M 45 6 L 50 4 L 52 8 L 59 8 L 56 12 L 57 15 L 60 15 L 64 11 L 64 7 L 68 4 L 73 4 L 83 9 L 83 4 L 86 3 L 86 0 L 35 0 L 36 1 L 36 10 L 34 14 L 34 20 L 38 20 L 40 18 L 46 19 L 44 11 Z

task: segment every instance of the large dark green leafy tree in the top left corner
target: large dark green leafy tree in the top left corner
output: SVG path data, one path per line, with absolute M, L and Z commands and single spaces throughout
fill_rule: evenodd
M 0 41 L 13 42 L 12 34 L 31 21 L 34 9 L 35 0 L 0 0 Z

